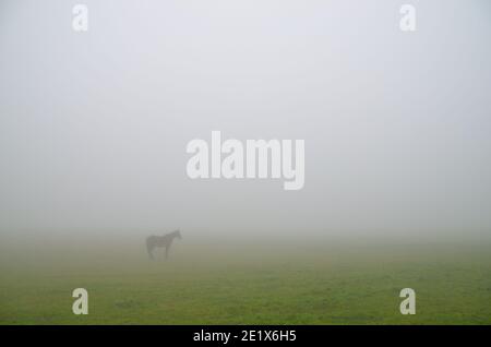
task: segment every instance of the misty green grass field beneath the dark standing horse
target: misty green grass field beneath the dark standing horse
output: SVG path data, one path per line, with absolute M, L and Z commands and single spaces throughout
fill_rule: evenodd
M 137 246 L 137 247 L 136 247 Z M 491 244 L 2 244 L 1 324 L 490 324 Z M 22 254 L 22 255 L 21 255 Z M 74 315 L 72 290 L 88 290 Z M 402 315 L 398 294 L 417 294 Z

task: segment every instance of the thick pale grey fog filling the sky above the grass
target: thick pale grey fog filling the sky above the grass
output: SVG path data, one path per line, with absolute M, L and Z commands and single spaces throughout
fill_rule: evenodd
M 491 236 L 491 5 L 0 3 L 0 236 Z M 304 187 L 190 179 L 193 139 L 304 140 Z M 189 239 L 189 238 L 188 238 Z

